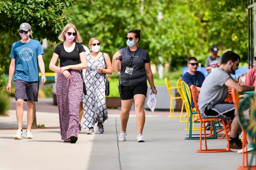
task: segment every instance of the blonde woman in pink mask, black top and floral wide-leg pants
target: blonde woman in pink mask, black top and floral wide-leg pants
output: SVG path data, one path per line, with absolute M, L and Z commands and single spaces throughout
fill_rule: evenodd
M 49 69 L 59 72 L 56 95 L 60 135 L 64 142 L 76 143 L 79 134 L 79 105 L 83 93 L 80 70 L 87 68 L 87 60 L 83 45 L 79 44 L 82 39 L 73 24 L 67 24 L 58 39 L 64 42 L 55 48 Z M 56 66 L 58 59 L 60 67 Z

